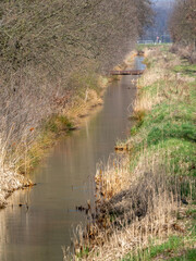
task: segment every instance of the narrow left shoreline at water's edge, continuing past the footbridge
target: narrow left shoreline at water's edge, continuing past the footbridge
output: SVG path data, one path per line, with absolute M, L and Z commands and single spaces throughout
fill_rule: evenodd
M 124 61 L 122 65 L 118 65 L 118 67 L 124 69 L 128 66 L 128 63 L 133 63 L 134 57 L 135 52 L 131 52 L 131 54 L 127 55 L 126 61 Z M 40 130 L 37 133 L 37 138 L 28 150 L 30 157 L 33 154 L 32 159 L 27 157 L 25 161 L 21 163 L 22 166 L 20 166 L 19 171 L 5 167 L 0 172 L 0 210 L 7 207 L 7 199 L 15 190 L 36 185 L 30 181 L 30 172 L 39 164 L 40 160 L 46 157 L 46 152 L 53 148 L 57 140 L 60 140 L 60 137 L 68 135 L 69 132 L 83 127 L 84 119 L 90 117 L 102 107 L 102 97 L 107 86 L 113 80 L 119 79 L 120 78 L 115 79 L 110 76 L 99 76 L 99 91 L 86 89 L 86 92 L 84 94 L 85 99 L 73 97 L 71 103 L 62 111 L 62 113 L 52 120 L 52 127 L 53 125 L 57 125 L 56 132 L 50 129 L 51 127 L 49 126 L 47 133 L 41 134 Z M 51 125 L 50 122 L 46 124 Z

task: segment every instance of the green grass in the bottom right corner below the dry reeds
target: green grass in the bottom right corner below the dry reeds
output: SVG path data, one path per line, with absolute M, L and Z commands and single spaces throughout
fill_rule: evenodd
M 158 244 L 157 239 L 150 239 L 150 244 L 145 249 L 126 254 L 121 261 L 194 261 L 196 257 L 196 210 L 192 206 L 186 211 L 183 219 L 186 220 L 186 235 L 170 236 L 163 244 Z

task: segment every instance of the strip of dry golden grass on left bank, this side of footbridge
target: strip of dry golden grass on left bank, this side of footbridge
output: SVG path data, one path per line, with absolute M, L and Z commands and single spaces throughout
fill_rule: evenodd
M 101 97 L 107 85 L 108 78 L 99 76 L 96 88 L 90 88 L 88 85 L 85 90 L 81 89 L 81 94 L 70 97 L 69 101 L 63 98 L 57 99 L 54 101 L 56 111 L 59 113 L 51 113 L 45 121 L 40 122 L 36 129 L 29 128 L 29 134 L 34 133 L 29 142 L 13 145 L 12 151 L 9 148 L 4 149 L 5 159 L 2 159 L 4 163 L 2 163 L 0 171 L 0 208 L 7 206 L 7 198 L 14 190 L 34 186 L 30 182 L 30 172 L 62 135 L 68 135 L 69 132 L 81 127 L 84 117 L 96 112 L 97 108 L 102 104 Z M 1 154 L 3 158 L 3 153 Z M 9 157 L 12 157 L 12 160 L 7 162 Z M 14 164 L 17 157 L 20 160 Z

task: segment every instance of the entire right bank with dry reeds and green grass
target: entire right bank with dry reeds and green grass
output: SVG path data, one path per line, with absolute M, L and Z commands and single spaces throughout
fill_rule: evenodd
M 123 157 L 97 170 L 97 219 L 75 260 L 194 260 L 196 66 L 167 46 L 145 63 L 136 124 Z

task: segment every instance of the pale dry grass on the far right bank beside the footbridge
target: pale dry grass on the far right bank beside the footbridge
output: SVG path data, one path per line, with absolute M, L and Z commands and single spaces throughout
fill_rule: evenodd
M 166 100 L 172 102 L 172 100 L 188 99 L 189 88 L 187 84 L 195 80 L 192 77 L 171 72 L 170 69 L 180 64 L 177 57 L 172 55 L 166 62 L 166 57 L 158 50 L 156 53 L 152 51 L 150 55 L 158 55 L 159 63 L 152 64 L 138 80 L 138 96 L 133 104 L 133 116 L 138 120 L 142 120 L 140 115 L 151 111 L 152 107 Z M 143 88 L 150 88 L 150 86 L 155 86 L 156 90 L 154 91 L 151 88 L 151 91 L 146 91 L 146 89 L 143 91 Z

